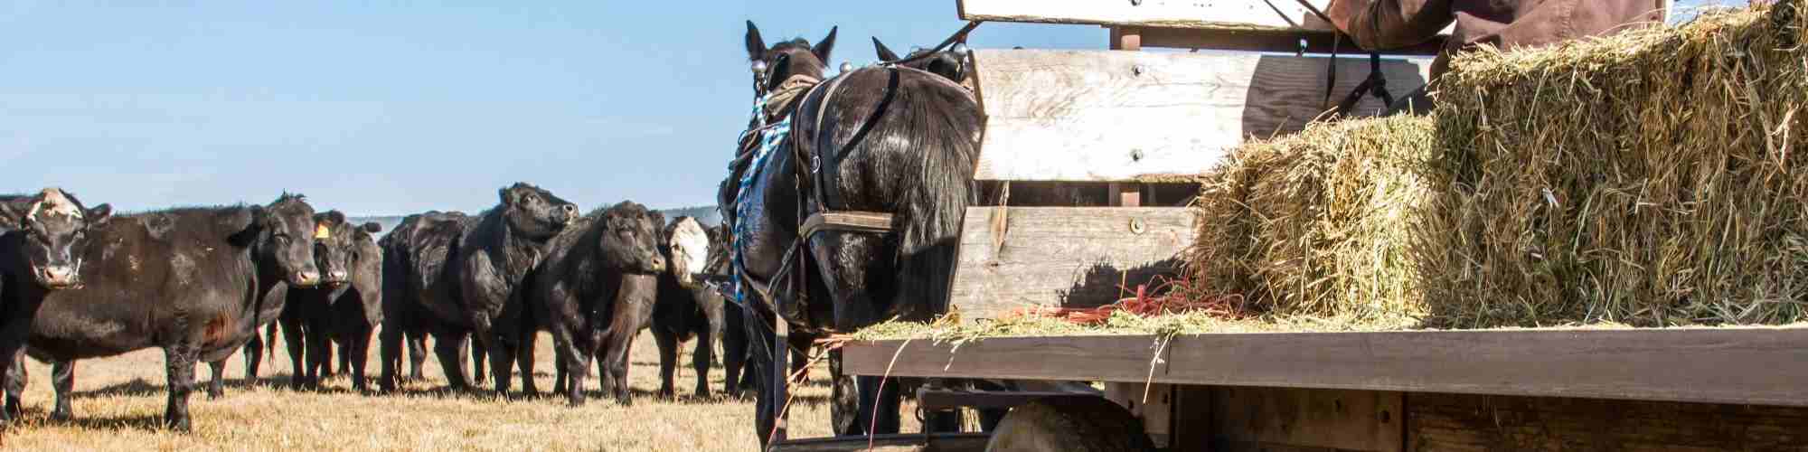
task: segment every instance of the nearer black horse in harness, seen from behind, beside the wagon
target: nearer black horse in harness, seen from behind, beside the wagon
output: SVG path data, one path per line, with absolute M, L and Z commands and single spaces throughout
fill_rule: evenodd
M 821 334 L 944 313 L 962 215 L 976 193 L 980 108 L 973 94 L 942 76 L 890 65 L 824 81 L 833 43 L 830 31 L 814 47 L 805 40 L 767 47 L 747 24 L 761 101 L 720 206 L 739 253 L 761 443 L 774 432 L 776 407 L 786 403 L 770 371 L 776 318 L 790 331 Z M 783 137 L 763 132 L 785 125 Z M 767 137 L 774 146 L 763 146 Z M 801 237 L 805 219 L 823 212 L 890 213 L 891 224 L 884 233 L 823 228 Z M 897 432 L 897 385 L 879 378 L 857 385 L 859 414 L 837 430 Z

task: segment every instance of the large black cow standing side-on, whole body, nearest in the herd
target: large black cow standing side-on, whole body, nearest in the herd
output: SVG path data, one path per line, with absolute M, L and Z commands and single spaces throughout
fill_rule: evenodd
M 165 423 L 188 430 L 195 363 L 224 360 L 257 336 L 260 322 L 282 313 L 287 286 L 320 282 L 313 215 L 302 195 L 284 193 L 268 206 L 175 208 L 92 228 L 81 250 L 90 262 L 80 268 L 83 286 L 9 306 L 22 316 L 5 325 L 0 353 L 29 340 L 33 358 L 56 363 L 51 414 L 69 418 L 74 360 L 161 347 Z M 24 389 L 24 374 L 7 376 Z

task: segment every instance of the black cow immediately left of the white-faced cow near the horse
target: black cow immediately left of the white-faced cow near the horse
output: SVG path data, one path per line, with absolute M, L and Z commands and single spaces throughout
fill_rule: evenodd
M 555 391 L 584 405 L 584 376 L 593 358 L 604 365 L 615 398 L 627 396 L 627 351 L 651 322 L 658 280 L 658 213 L 635 202 L 591 212 L 548 244 L 528 287 L 535 327 L 553 334 Z M 530 331 L 532 333 L 532 331 Z M 597 356 L 604 351 L 604 356 Z

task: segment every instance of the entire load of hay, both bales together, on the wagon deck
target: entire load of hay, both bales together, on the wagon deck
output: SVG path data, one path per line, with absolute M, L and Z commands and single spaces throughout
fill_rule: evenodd
M 1273 313 L 1430 327 L 1799 322 L 1801 5 L 1470 52 L 1432 123 L 1246 145 L 1204 177 L 1193 271 Z

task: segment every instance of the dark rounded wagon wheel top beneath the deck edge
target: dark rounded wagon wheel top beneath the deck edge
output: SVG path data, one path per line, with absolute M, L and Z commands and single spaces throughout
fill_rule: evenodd
M 1005 414 L 987 452 L 1154 452 L 1143 421 L 1105 398 L 1049 398 Z

